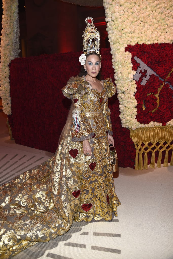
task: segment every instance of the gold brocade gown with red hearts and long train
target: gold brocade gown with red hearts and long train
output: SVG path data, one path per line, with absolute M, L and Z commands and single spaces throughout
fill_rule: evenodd
M 62 92 L 74 104 L 68 136 L 49 160 L 0 186 L 0 258 L 65 234 L 73 220 L 117 217 L 107 137 L 107 131 L 112 134 L 108 97 L 116 88 L 107 78 L 98 92 L 83 76 L 71 77 Z M 85 139 L 91 156 L 83 154 Z

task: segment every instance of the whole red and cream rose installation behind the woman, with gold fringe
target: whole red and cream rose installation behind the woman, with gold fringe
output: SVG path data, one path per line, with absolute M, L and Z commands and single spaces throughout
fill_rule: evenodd
M 102 76 L 117 85 L 109 104 L 119 166 L 173 165 L 172 1 L 103 5 L 111 49 L 101 50 Z M 3 111 L 16 143 L 54 152 L 70 106 L 61 88 L 80 71 L 81 53 L 17 58 L 18 1 L 4 0 L 3 9 Z

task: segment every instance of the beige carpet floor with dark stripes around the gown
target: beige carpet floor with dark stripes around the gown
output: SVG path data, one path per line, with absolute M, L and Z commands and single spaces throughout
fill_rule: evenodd
M 52 153 L 10 140 L 0 106 L 0 185 L 47 160 Z M 111 222 L 72 224 L 69 232 L 19 253 L 15 259 L 173 259 L 173 167 L 119 168 L 121 206 Z

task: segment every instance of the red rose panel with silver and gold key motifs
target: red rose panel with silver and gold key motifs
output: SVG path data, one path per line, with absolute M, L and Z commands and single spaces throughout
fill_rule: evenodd
M 156 121 L 165 126 L 173 117 L 173 45 L 136 44 L 128 45 L 125 50 L 132 54 L 133 70 L 139 70 L 139 80 L 135 80 L 137 120 L 141 124 Z M 143 71 L 135 57 L 138 58 L 138 62 L 141 60 L 146 65 Z M 149 78 L 145 80 L 147 75 Z

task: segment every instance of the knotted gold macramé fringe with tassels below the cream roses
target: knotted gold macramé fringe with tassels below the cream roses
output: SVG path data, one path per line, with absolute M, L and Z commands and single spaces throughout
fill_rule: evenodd
M 173 165 L 173 126 L 154 126 L 130 130 L 130 138 L 135 144 L 135 170 L 148 169 L 148 152 L 151 151 L 150 168 L 155 168 L 155 152 L 158 150 L 157 167 L 161 167 L 162 152 L 165 150 L 163 166 L 168 166 L 168 152 L 172 150 L 170 166 Z M 148 145 L 152 143 L 152 145 Z M 144 153 L 144 163 L 142 154 Z

